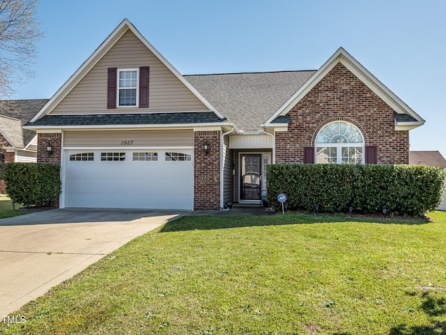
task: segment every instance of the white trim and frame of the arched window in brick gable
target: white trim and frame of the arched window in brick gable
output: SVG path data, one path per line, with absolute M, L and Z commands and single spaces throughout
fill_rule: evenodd
M 341 142 L 341 143 L 318 143 L 318 137 L 321 132 L 334 123 L 344 123 L 353 126 L 361 136 L 362 142 Z M 344 133 L 345 134 L 345 133 Z M 337 134 L 333 134 L 334 136 Z M 357 164 L 365 163 L 365 140 L 360 128 L 351 122 L 336 120 L 325 124 L 317 133 L 314 141 L 314 162 L 322 164 Z M 357 156 L 361 156 L 358 160 Z

